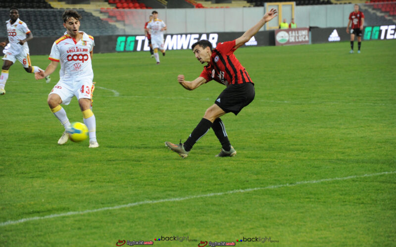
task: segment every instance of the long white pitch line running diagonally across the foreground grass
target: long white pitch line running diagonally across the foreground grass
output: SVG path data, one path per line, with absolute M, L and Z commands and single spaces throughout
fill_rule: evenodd
M 226 192 L 210 193 L 210 194 L 197 195 L 197 196 L 168 198 L 168 199 L 161 199 L 161 200 L 155 200 L 155 201 L 142 201 L 142 202 L 130 203 L 130 204 L 119 205 L 119 206 L 110 206 L 110 207 L 102 207 L 102 208 L 97 208 L 97 209 L 89 209 L 89 210 L 85 210 L 85 211 L 71 211 L 71 212 L 66 212 L 66 213 L 50 214 L 47 216 L 37 216 L 37 217 L 24 218 L 24 219 L 19 219 L 19 220 L 8 220 L 5 222 L 1 222 L 0 226 L 14 225 L 14 224 L 22 223 L 25 221 L 31 221 L 31 220 L 55 218 L 55 217 L 69 216 L 69 215 L 74 215 L 74 214 L 86 214 L 86 213 L 93 213 L 93 212 L 99 212 L 99 211 L 104 211 L 104 210 L 114 210 L 114 209 L 119 209 L 119 208 L 124 208 L 124 207 L 132 207 L 132 206 L 145 205 L 145 204 L 177 202 L 177 201 L 184 201 L 184 200 L 188 200 L 188 199 L 195 199 L 195 198 L 202 198 L 202 197 L 222 196 L 222 195 L 233 194 L 233 193 L 245 193 L 245 192 L 255 191 L 255 190 L 276 189 L 276 188 L 281 188 L 281 187 L 292 187 L 292 186 L 296 186 L 296 185 L 300 185 L 300 184 L 316 184 L 316 183 L 321 183 L 321 182 L 347 180 L 347 179 L 361 178 L 361 177 L 372 177 L 372 176 L 394 174 L 394 173 L 396 173 L 396 171 L 384 171 L 384 172 L 364 174 L 364 175 L 353 175 L 353 176 L 348 176 L 348 177 L 324 178 L 324 179 L 319 179 L 319 180 L 300 181 L 300 182 L 295 182 L 295 183 L 291 183 L 291 184 L 287 183 L 287 184 L 279 184 L 279 185 L 270 185 L 267 187 L 258 187 L 258 188 L 244 189 L 244 190 L 231 190 L 231 191 L 226 191 Z

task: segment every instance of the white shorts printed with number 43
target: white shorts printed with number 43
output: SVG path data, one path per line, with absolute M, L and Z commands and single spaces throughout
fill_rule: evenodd
M 92 93 L 95 90 L 95 85 L 92 80 L 79 79 L 76 81 L 59 81 L 52 88 L 49 94 L 55 93 L 59 95 L 63 105 L 68 105 L 71 99 L 76 96 L 77 99 L 91 99 Z

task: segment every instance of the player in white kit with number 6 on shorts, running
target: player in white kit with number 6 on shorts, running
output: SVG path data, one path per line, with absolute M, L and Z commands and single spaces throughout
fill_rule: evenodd
M 23 68 L 28 73 L 35 73 L 40 70 L 37 66 L 31 66 L 29 57 L 29 46 L 27 41 L 33 39 L 28 26 L 23 21 L 19 20 L 19 10 L 16 7 L 9 9 L 9 20 L 7 23 L 8 38 L 0 43 L 0 46 L 5 47 L 9 43 L 9 48 L 5 51 L 3 66 L 1 67 L 0 75 L 0 94 L 4 94 L 5 82 L 8 79 L 8 70 L 18 60 Z M 46 78 L 47 83 L 50 81 Z

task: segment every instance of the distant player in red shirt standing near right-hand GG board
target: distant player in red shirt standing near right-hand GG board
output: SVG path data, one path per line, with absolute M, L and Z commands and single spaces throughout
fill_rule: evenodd
M 349 25 L 352 23 L 351 32 L 350 32 L 350 51 L 349 53 L 353 53 L 353 41 L 355 40 L 355 35 L 357 35 L 357 53 L 360 53 L 360 46 L 362 43 L 362 30 L 364 24 L 364 14 L 362 11 L 359 11 L 359 5 L 355 4 L 353 6 L 354 11 L 349 14 L 349 21 L 347 25 L 347 34 L 349 34 Z

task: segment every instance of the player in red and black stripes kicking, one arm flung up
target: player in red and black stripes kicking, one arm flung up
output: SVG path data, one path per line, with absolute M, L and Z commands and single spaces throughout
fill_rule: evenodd
M 207 40 L 201 40 L 192 45 L 195 57 L 200 63 L 207 63 L 200 76 L 194 81 L 185 81 L 184 75 L 179 75 L 178 82 L 188 90 L 194 90 L 198 86 L 214 80 L 226 85 L 216 101 L 210 106 L 193 130 L 186 142 L 173 144 L 165 142 L 172 151 L 186 158 L 193 145 L 212 128 L 219 139 L 222 149 L 217 157 L 234 156 L 237 151 L 231 146 L 230 141 L 220 117 L 232 112 L 237 115 L 242 108 L 247 106 L 254 98 L 254 84 L 234 55 L 234 51 L 244 45 L 255 35 L 264 24 L 277 16 L 277 10 L 271 9 L 263 18 L 245 34 L 234 41 L 222 42 L 215 49 Z

